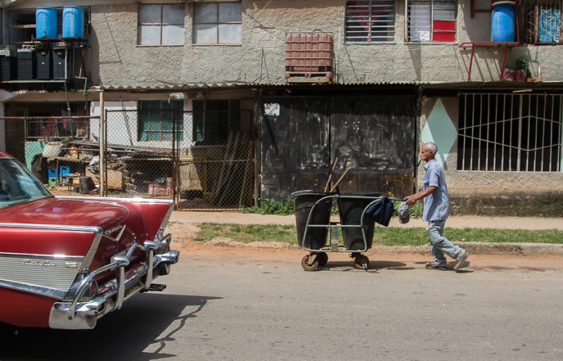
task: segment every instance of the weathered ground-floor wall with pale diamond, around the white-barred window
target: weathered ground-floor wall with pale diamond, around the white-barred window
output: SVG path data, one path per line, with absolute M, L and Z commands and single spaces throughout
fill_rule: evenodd
M 443 109 L 440 106 L 443 104 Z M 457 133 L 458 102 L 455 97 L 429 98 L 421 101 L 420 142 L 438 144 L 436 159 L 443 164 L 452 212 L 495 215 L 563 215 L 563 173 L 524 171 L 458 171 L 457 135 L 452 142 L 427 137 L 428 119 L 441 117 L 441 130 L 450 122 Z M 445 112 L 444 112 L 445 110 Z M 430 126 L 432 128 L 432 126 Z M 436 135 L 436 132 L 431 132 Z M 426 135 L 426 136 L 425 136 Z M 451 146 L 448 147 L 448 144 Z M 445 145 L 445 146 L 444 146 Z M 418 188 L 422 187 L 423 163 L 418 167 Z

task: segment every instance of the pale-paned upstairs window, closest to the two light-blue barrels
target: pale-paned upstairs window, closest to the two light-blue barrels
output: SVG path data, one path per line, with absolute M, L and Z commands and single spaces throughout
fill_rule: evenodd
M 140 45 L 183 44 L 183 3 L 139 5 Z

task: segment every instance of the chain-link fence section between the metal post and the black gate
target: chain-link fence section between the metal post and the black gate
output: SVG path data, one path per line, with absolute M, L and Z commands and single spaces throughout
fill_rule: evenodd
M 108 192 L 170 198 L 186 210 L 251 205 L 252 114 L 226 104 L 186 112 L 147 102 L 106 112 Z

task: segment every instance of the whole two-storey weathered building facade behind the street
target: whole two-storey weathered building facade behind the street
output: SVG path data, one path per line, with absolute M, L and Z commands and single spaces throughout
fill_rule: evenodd
M 54 51 L 59 36 L 33 34 L 36 8 L 56 8 L 61 26 L 67 5 L 3 1 L 6 49 Z M 180 203 L 239 207 L 322 191 L 334 168 L 348 170 L 341 192 L 406 196 L 421 187 L 419 144 L 433 141 L 454 212 L 562 213 L 560 1 L 508 4 L 503 17 L 482 0 L 74 5 L 84 35 L 67 39 L 68 79 L 3 80 L 0 110 L 92 117 L 89 142 L 106 115 L 116 154 L 178 154 L 175 171 L 128 165 L 129 191 L 174 178 Z M 28 157 L 31 127 L 14 122 L 0 121 L 0 148 Z

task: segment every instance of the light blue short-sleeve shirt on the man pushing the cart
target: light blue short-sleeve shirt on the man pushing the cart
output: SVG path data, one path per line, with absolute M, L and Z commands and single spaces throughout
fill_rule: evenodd
M 443 169 L 435 159 L 424 165 L 426 172 L 423 180 L 423 190 L 436 187 L 434 193 L 424 198 L 423 221 L 441 221 L 450 214 L 450 199 L 448 186 Z

